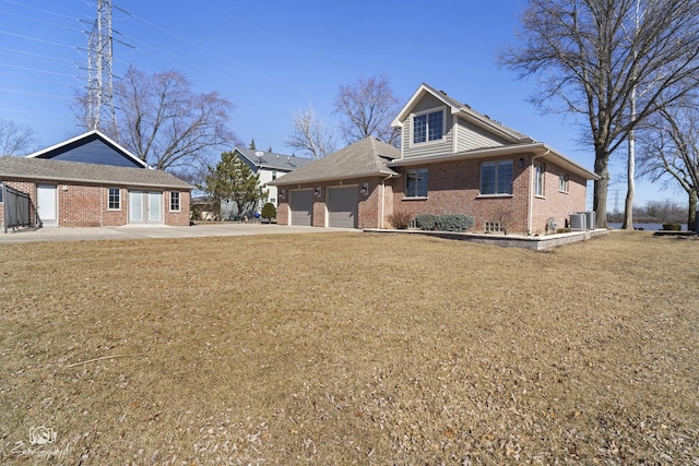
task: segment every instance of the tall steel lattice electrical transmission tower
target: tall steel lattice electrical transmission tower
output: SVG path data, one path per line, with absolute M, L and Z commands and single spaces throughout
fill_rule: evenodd
M 87 126 L 116 135 L 112 45 L 111 0 L 97 0 L 97 19 L 87 39 Z

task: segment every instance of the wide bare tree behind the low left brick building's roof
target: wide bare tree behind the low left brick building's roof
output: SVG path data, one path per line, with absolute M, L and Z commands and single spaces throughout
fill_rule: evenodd
M 130 67 L 114 86 L 118 129 L 107 135 L 158 169 L 197 169 L 213 151 L 235 142 L 226 124 L 233 104 L 216 92 L 198 94 L 178 71 L 146 74 Z M 76 117 L 86 121 L 85 97 Z

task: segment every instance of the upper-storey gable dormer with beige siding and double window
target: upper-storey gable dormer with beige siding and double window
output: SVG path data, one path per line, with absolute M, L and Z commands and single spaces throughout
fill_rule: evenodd
M 401 157 L 425 157 L 531 141 L 467 105 L 422 84 L 391 123 L 401 130 Z

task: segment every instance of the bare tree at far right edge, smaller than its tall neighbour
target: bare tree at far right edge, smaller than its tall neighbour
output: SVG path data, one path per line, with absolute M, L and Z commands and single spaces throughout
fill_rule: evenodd
M 696 227 L 699 190 L 699 103 L 664 108 L 642 130 L 640 175 L 665 187 L 679 186 L 689 198 L 687 225 Z

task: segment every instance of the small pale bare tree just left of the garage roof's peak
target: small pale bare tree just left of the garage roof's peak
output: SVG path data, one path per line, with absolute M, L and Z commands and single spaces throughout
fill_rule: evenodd
M 318 119 L 310 106 L 294 115 L 294 131 L 285 143 L 313 158 L 324 157 L 335 151 L 334 131 Z

